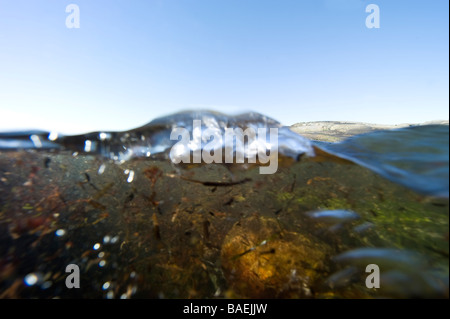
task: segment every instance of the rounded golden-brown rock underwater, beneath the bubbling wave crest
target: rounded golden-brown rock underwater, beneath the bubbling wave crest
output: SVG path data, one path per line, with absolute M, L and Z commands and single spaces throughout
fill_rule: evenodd
M 230 288 L 248 298 L 312 298 L 326 269 L 329 248 L 282 230 L 276 219 L 252 216 L 237 222 L 221 250 Z

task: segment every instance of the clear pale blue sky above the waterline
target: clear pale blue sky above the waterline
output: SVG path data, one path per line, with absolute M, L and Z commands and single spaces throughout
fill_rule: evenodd
M 66 6 L 80 28 L 66 27 Z M 368 29 L 368 4 L 380 28 Z M 449 118 L 447 0 L 0 0 L 0 130 Z

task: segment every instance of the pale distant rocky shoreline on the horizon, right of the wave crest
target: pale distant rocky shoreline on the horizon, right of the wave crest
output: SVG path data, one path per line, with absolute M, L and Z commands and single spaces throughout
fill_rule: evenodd
M 421 125 L 449 125 L 448 120 L 430 121 L 418 124 L 396 124 L 383 125 L 361 122 L 344 122 L 344 121 L 316 121 L 316 122 L 300 122 L 294 124 L 290 129 L 311 140 L 323 142 L 339 142 L 348 137 L 369 133 L 380 130 L 392 130 L 409 126 Z

